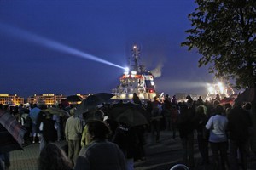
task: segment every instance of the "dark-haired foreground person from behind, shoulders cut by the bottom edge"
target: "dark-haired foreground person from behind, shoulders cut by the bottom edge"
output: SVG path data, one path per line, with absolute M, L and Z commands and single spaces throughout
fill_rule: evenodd
M 89 120 L 85 127 L 85 145 L 80 150 L 75 170 L 125 170 L 125 156 L 117 144 L 108 141 L 110 129 L 105 122 Z

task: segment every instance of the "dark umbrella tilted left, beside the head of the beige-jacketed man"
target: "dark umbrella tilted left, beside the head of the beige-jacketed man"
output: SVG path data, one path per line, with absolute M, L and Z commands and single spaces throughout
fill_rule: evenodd
M 108 94 L 108 93 L 98 93 L 98 94 L 90 95 L 86 99 L 84 99 L 81 104 L 77 106 L 75 115 L 79 116 L 84 112 L 96 109 L 97 105 L 107 102 L 113 96 L 114 96 L 113 94 Z

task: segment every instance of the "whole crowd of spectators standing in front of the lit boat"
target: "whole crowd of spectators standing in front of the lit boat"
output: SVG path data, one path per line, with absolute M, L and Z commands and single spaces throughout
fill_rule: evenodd
M 238 170 L 241 165 L 245 170 L 248 152 L 252 151 L 256 156 L 256 114 L 250 103 L 222 105 L 219 99 L 203 101 L 200 97 L 193 100 L 189 95 L 186 101 L 178 102 L 175 95 L 171 98 L 168 94 L 163 100 L 154 97 L 145 104 L 133 94 L 131 103 L 142 105 L 148 111 L 148 124 L 131 127 L 110 119 L 108 113 L 113 107 L 110 104 L 90 113 L 84 112 L 86 120 L 75 116 L 75 105 L 69 105 L 65 100 L 55 107 L 67 111 L 68 116 L 45 112 L 47 105 L 32 104 L 31 108 L 20 105 L 11 110 L 1 105 L 1 109 L 9 111 L 26 127 L 24 144 L 39 143 L 40 170 L 132 170 L 135 161 L 146 159 L 145 133 L 151 134 L 152 141 L 157 144 L 162 130 L 172 133 L 172 139 L 181 139 L 183 164 L 190 168 L 195 166 L 195 138 L 201 164 L 211 163 L 215 169 Z M 67 141 L 65 147 L 55 144 L 64 139 Z M 2 160 L 9 167 L 9 158 Z

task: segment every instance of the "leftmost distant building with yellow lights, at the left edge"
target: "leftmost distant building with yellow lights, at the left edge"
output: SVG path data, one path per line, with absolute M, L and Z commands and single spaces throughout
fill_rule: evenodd
M 24 104 L 24 98 L 17 94 L 0 94 L 0 104 L 3 105 L 20 105 Z

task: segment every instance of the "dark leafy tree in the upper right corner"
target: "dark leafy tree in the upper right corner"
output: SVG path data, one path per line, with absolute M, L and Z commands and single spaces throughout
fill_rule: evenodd
M 197 48 L 199 67 L 235 80 L 235 88 L 256 87 L 256 1 L 195 0 L 192 28 L 182 46 Z

